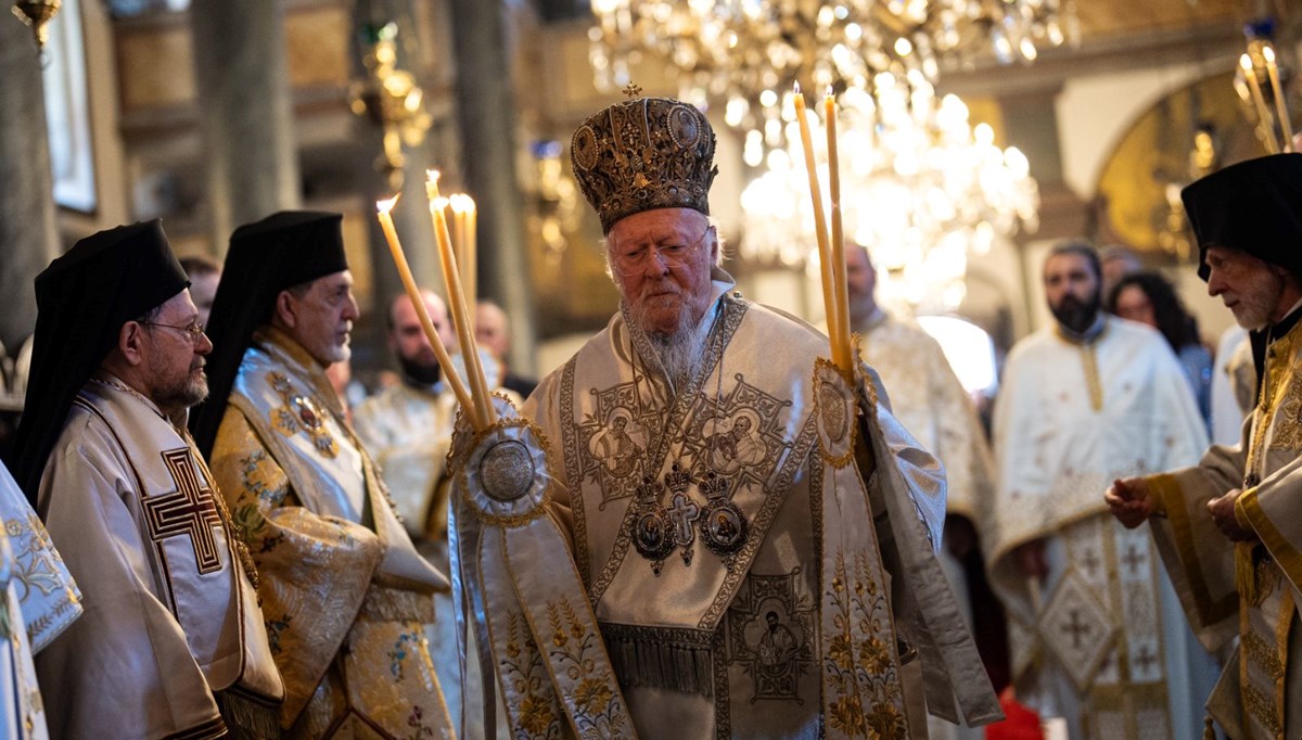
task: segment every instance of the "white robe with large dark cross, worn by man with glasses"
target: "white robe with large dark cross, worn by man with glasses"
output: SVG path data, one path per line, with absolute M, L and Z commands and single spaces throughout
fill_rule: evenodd
M 78 393 L 38 499 L 85 593 L 82 618 L 36 655 L 51 735 L 275 732 L 284 684 L 215 491 L 145 396 L 107 373 Z

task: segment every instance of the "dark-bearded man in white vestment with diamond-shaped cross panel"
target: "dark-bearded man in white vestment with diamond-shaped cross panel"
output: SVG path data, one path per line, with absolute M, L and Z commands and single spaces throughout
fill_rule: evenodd
M 1193 462 L 1207 439 L 1160 334 L 1100 310 L 1099 261 L 1044 262 L 1053 323 L 1017 343 L 995 405 L 996 505 L 982 534 L 1009 612 L 1018 698 L 1072 737 L 1182 739 L 1215 675 L 1180 618 L 1144 532 L 1099 490 Z

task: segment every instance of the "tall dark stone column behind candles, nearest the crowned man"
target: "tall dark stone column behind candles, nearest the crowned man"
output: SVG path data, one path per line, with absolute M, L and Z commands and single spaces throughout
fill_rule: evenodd
M 479 210 L 479 293 L 510 317 L 512 365 L 534 373 L 533 285 L 516 176 L 516 99 L 500 1 L 450 0 L 466 189 Z

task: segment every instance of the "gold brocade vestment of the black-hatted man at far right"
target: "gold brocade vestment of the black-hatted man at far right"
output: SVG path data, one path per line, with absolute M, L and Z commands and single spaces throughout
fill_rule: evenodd
M 1302 735 L 1302 323 L 1269 343 L 1263 375 L 1238 446 L 1148 478 L 1167 515 L 1150 519 L 1154 537 L 1195 633 L 1208 650 L 1240 638 L 1207 702 L 1236 740 Z M 1233 489 L 1243 490 L 1240 522 L 1258 537 L 1249 543 L 1229 542 L 1207 515 Z

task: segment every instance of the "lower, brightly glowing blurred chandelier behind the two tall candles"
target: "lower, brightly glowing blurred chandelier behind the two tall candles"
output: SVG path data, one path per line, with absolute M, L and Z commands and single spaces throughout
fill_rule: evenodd
M 875 95 L 852 89 L 841 96 L 846 237 L 872 254 L 883 304 L 953 310 L 965 294 L 969 254 L 986 254 L 997 236 L 1039 225 L 1035 180 L 1017 147 L 1003 150 L 990 125 L 970 125 L 956 95 L 937 99 L 926 81 L 909 86 L 889 73 L 874 89 Z M 799 141 L 794 129 L 788 141 Z M 742 192 L 740 257 L 812 270 L 803 155 L 798 146 L 773 149 L 764 167 Z

